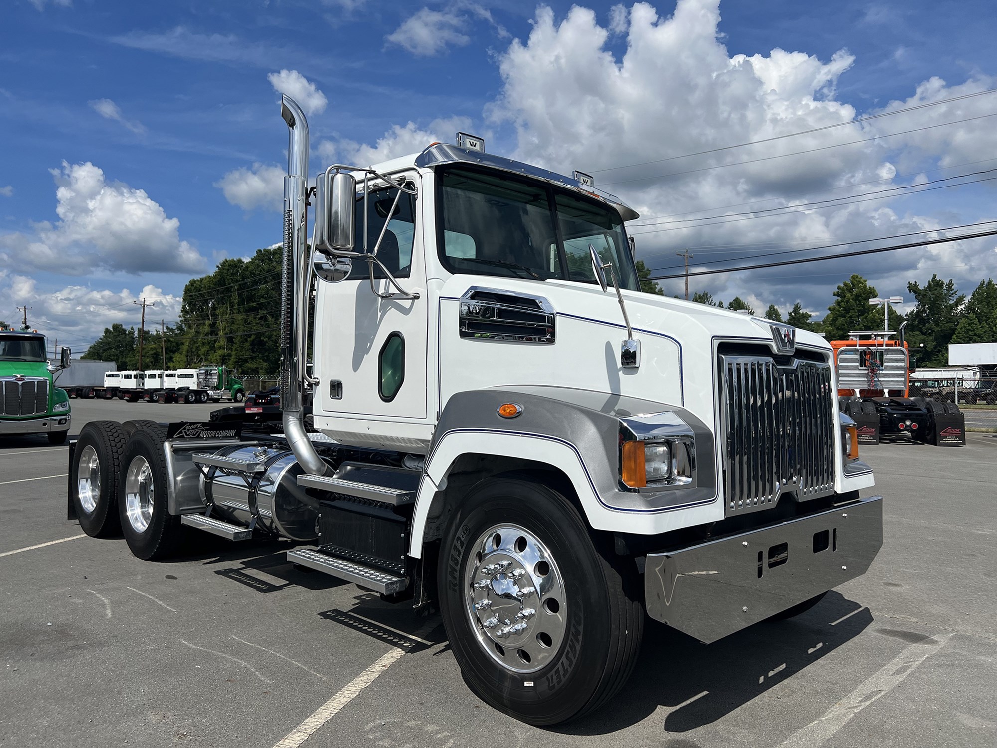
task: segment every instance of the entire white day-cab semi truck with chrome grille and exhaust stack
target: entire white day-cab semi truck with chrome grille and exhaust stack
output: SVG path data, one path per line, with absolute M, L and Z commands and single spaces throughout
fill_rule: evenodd
M 824 339 L 640 292 L 637 215 L 584 176 L 459 134 L 312 187 L 304 115 L 281 115 L 283 433 L 233 409 L 88 424 L 88 534 L 146 560 L 184 530 L 296 541 L 438 606 L 469 686 L 541 725 L 620 688 L 645 615 L 712 642 L 868 568 L 882 502 Z

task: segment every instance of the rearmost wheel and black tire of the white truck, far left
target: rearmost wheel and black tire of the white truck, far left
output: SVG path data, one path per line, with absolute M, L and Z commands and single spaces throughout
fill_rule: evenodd
M 76 442 L 69 468 L 70 493 L 80 527 L 92 538 L 106 538 L 121 528 L 118 479 L 127 441 L 117 421 L 91 421 Z

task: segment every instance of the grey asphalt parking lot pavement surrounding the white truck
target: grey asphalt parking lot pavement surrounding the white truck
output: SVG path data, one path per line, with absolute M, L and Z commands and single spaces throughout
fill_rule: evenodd
M 73 433 L 214 407 L 73 401 Z M 995 436 L 863 448 L 886 499 L 868 573 L 711 645 L 648 621 L 623 691 L 555 729 L 479 701 L 438 616 L 298 570 L 288 543 L 191 533 L 148 562 L 81 537 L 67 452 L 0 439 L 2 746 L 997 744 Z

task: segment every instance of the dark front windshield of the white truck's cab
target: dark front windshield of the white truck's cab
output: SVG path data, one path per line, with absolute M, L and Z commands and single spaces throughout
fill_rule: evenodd
M 454 273 L 594 283 L 588 245 L 638 290 L 619 213 L 509 175 L 452 168 L 440 180 L 440 259 Z

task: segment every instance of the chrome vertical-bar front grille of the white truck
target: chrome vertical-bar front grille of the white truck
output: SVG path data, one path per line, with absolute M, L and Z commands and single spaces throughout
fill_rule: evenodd
M 782 493 L 834 490 L 831 365 L 722 355 L 727 514 L 774 506 Z

